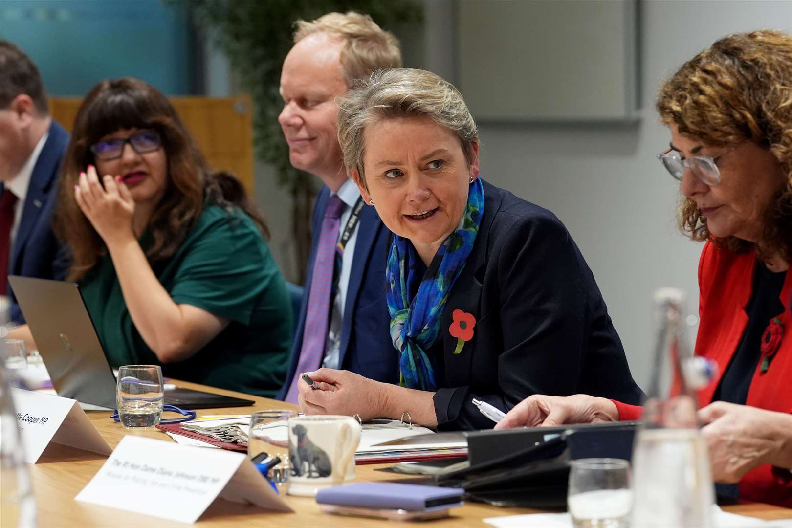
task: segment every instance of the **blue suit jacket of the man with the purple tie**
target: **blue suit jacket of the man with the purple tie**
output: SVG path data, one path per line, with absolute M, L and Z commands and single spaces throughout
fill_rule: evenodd
M 310 278 L 314 272 L 316 245 L 329 196 L 329 188 L 323 186 L 314 205 L 311 222 L 314 239 L 311 241 L 305 294 L 296 321 L 286 382 L 278 394 L 280 400 L 286 397 L 295 376 L 300 349 L 303 348 Z M 341 325 L 339 368 L 379 382 L 398 383 L 398 351 L 390 341 L 390 314 L 385 298 L 385 264 L 389 248 L 390 231 L 383 225 L 374 207 L 364 207 L 357 227 L 355 255 L 349 273 L 344 321 Z

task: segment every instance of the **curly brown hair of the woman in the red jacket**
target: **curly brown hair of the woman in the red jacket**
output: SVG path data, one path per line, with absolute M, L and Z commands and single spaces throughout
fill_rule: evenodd
M 792 260 L 792 37 L 762 30 L 725 36 L 661 85 L 661 122 L 711 145 L 752 141 L 779 161 L 784 185 L 765 211 L 756 250 Z M 695 241 L 744 253 L 754 244 L 714 237 L 691 199 L 680 203 L 680 228 Z

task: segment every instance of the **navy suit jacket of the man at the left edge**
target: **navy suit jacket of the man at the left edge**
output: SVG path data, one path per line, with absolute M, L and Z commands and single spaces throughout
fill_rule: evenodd
M 60 162 L 69 144 L 69 133 L 55 120 L 51 121 L 49 136 L 30 176 L 17 237 L 13 242 L 9 261 L 9 275 L 24 275 L 40 279 L 63 279 L 68 271 L 67 260 L 58 258 L 59 243 L 52 232 L 52 212 L 58 194 Z M 0 185 L 0 196 L 4 192 Z M 10 289 L 11 321 L 22 324 L 25 317 Z

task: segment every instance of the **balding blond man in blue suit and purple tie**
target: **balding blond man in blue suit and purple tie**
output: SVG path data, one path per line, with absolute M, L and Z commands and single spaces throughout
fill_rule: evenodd
M 385 298 L 390 231 L 374 207 L 363 207 L 360 191 L 347 178 L 335 99 L 356 78 L 402 65 L 398 40 L 367 15 L 328 13 L 296 26 L 295 45 L 280 75 L 284 109 L 278 121 L 291 165 L 323 185 L 314 205 L 303 306 L 279 394 L 295 403 L 299 375 L 319 367 L 398 382 Z

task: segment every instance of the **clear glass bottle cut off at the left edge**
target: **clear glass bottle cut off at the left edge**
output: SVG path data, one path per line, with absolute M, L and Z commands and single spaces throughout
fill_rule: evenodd
M 7 317 L 8 301 L 0 297 L 0 358 L 5 357 Z M 0 526 L 36 526 L 36 500 L 22 458 L 10 376 L 3 363 L 0 361 Z

